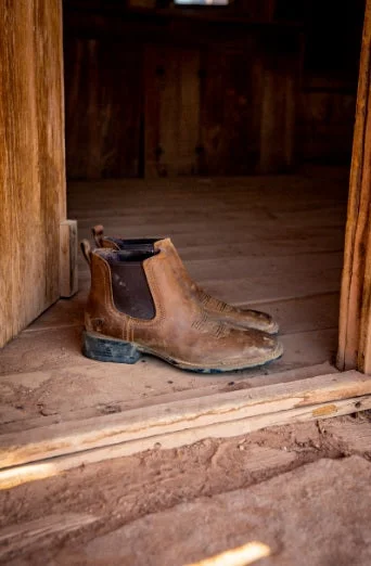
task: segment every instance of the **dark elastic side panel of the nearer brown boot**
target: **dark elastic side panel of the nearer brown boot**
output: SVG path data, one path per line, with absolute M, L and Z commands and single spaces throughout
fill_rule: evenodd
M 142 262 L 110 261 L 110 263 L 116 309 L 137 319 L 153 319 L 156 310 Z

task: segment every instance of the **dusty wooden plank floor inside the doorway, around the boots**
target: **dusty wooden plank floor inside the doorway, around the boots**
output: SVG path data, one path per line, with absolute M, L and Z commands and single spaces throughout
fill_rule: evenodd
M 197 376 L 153 358 L 99 363 L 80 352 L 89 272 L 0 353 L 1 432 L 335 372 L 347 171 L 292 177 L 71 183 L 79 237 L 170 236 L 192 276 L 233 305 L 270 312 L 284 356 L 269 369 Z M 57 250 L 55 250 L 57 256 Z

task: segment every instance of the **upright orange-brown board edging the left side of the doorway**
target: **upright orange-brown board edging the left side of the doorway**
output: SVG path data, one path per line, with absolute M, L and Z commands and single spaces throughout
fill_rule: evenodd
M 38 163 L 42 241 L 33 250 L 36 260 L 44 255 L 44 310 L 59 297 L 57 249 L 60 223 L 66 218 L 64 75 L 62 2 L 35 2 L 35 90 L 38 124 Z M 24 78 L 23 78 L 24 80 Z M 22 165 L 23 166 L 23 165 Z M 25 193 L 27 191 L 24 189 Z M 29 197 L 29 193 L 27 194 Z M 28 221 L 28 215 L 27 221 Z M 42 249 L 42 252 L 41 252 Z M 30 253 L 27 254 L 29 260 Z M 25 304 L 23 297 L 22 304 Z

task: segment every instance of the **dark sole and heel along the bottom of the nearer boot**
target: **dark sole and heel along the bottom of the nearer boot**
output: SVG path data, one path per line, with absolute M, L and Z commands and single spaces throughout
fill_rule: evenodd
M 114 363 L 127 363 L 132 364 L 142 358 L 142 355 L 150 355 L 156 358 L 159 358 L 171 365 L 179 368 L 180 370 L 186 370 L 189 372 L 195 373 L 226 373 L 226 372 L 235 372 L 243 370 L 251 370 L 252 368 L 260 368 L 261 365 L 267 365 L 273 361 L 279 360 L 282 357 L 283 349 L 282 346 L 278 345 L 277 352 L 273 357 L 270 357 L 267 360 L 259 360 L 253 363 L 246 363 L 244 365 L 238 366 L 227 366 L 227 368 L 199 368 L 194 364 L 183 362 L 180 360 L 176 360 L 174 358 L 167 356 L 161 356 L 157 352 L 152 351 L 149 348 L 135 344 L 132 342 L 125 342 L 118 338 L 110 338 L 107 336 L 102 336 L 95 332 L 84 332 L 84 343 L 82 343 L 82 353 L 87 358 L 91 360 L 102 361 L 102 362 L 114 362 Z

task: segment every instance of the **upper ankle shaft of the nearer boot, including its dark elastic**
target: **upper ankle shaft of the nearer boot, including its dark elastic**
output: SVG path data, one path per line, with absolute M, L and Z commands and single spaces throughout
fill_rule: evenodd
M 89 256 L 91 286 L 86 324 L 97 330 L 101 321 L 133 327 L 141 322 L 181 321 L 199 312 L 200 307 L 179 269 L 178 256 L 167 239 L 154 244 L 137 243 L 130 249 L 99 248 Z M 179 259 L 180 260 L 180 259 Z M 104 324 L 105 327 L 105 324 Z

